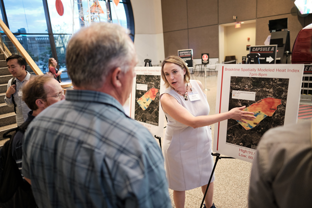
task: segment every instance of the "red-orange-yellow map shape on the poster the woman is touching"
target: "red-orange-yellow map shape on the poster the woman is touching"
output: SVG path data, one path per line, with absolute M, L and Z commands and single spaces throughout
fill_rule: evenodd
M 275 99 L 272 97 L 264 98 L 256 103 L 251 104 L 250 106 L 243 109 L 244 111 L 254 112 L 255 119 L 246 120 L 247 123 L 243 123 L 241 121 L 237 122 L 242 125 L 246 130 L 249 130 L 256 126 L 261 120 L 263 120 L 266 116 L 272 116 L 277 109 L 277 106 L 281 104 L 280 99 Z

